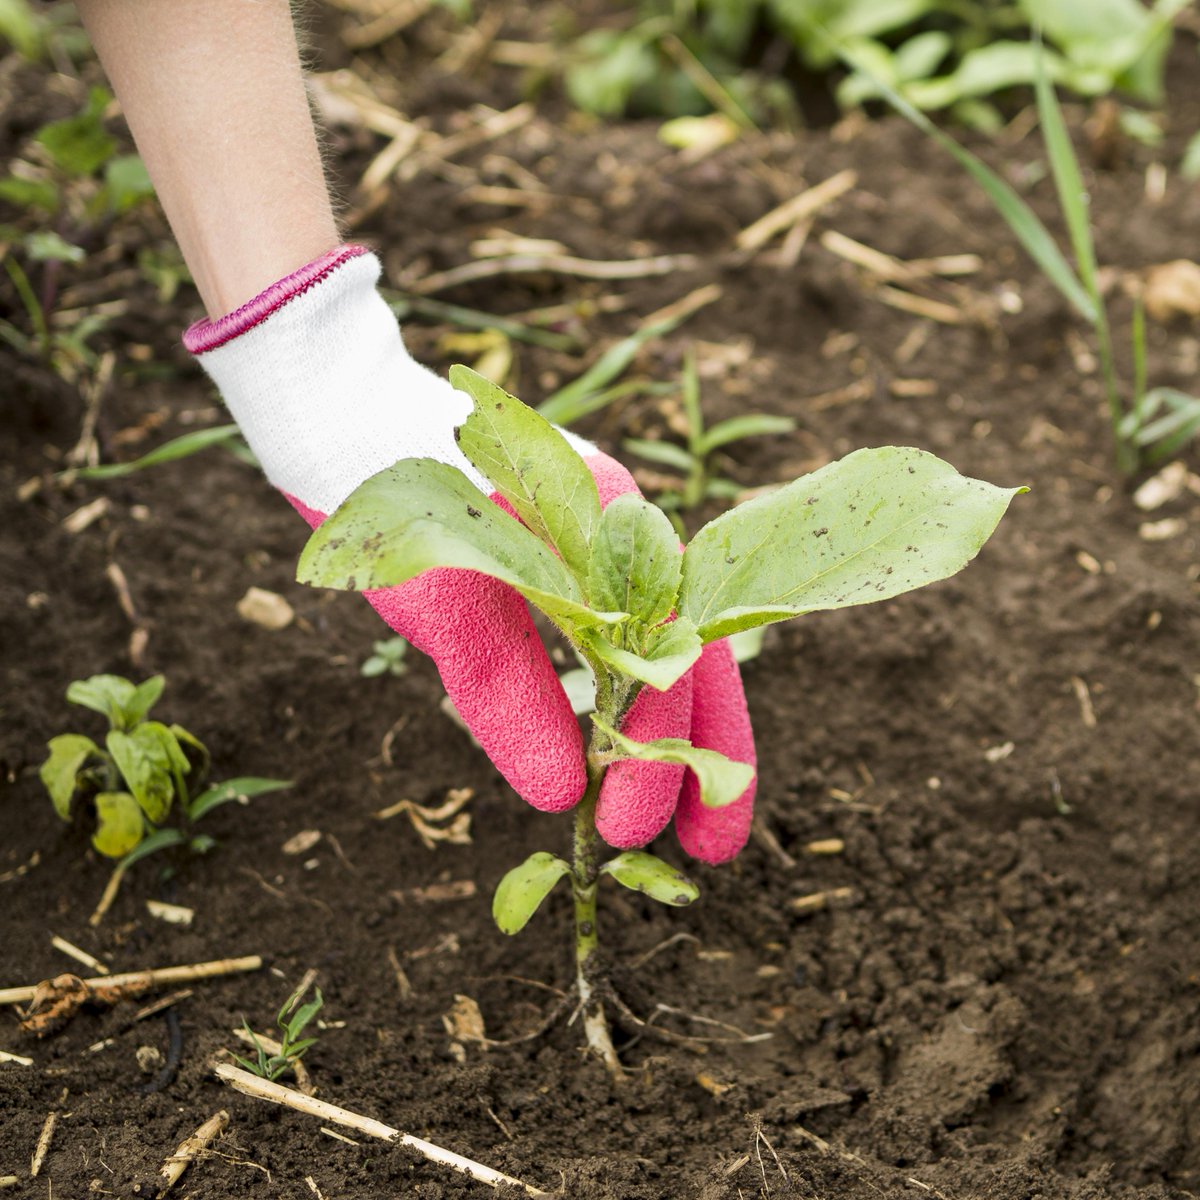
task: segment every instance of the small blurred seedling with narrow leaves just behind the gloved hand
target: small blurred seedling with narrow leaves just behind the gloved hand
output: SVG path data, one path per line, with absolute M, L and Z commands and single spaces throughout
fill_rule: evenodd
M 655 497 L 665 512 L 685 511 L 698 508 L 704 500 L 728 500 L 742 494 L 743 487 L 732 479 L 724 479 L 714 470 L 714 456 L 734 442 L 744 438 L 766 437 L 770 433 L 790 433 L 796 421 L 790 416 L 772 416 L 767 413 L 745 413 L 719 421 L 712 428 L 704 427 L 704 414 L 700 407 L 700 372 L 696 355 L 689 353 L 683 368 L 684 420 L 688 425 L 686 444 L 652 442 L 647 438 L 626 438 L 623 445 L 650 462 L 661 463 L 683 472 L 677 488 L 667 488 Z

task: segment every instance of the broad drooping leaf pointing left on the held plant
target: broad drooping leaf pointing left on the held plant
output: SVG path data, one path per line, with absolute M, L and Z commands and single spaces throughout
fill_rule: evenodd
M 428 458 L 402 458 L 356 487 L 308 539 L 296 578 L 360 592 L 406 583 L 434 566 L 503 580 L 559 625 L 625 617 L 589 610 L 552 550 L 462 472 Z

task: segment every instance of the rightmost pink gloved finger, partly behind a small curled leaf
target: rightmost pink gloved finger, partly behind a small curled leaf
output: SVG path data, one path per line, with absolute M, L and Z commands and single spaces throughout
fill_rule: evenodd
M 754 732 L 742 676 L 728 642 L 710 642 L 691 668 L 691 744 L 756 766 Z M 757 776 L 724 809 L 706 808 L 696 776 L 688 772 L 676 809 L 676 833 L 683 848 L 704 863 L 727 863 L 746 844 L 754 817 Z

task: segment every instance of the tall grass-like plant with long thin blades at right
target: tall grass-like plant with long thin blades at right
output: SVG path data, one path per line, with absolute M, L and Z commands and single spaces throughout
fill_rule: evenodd
M 860 71 L 869 70 L 850 50 L 841 48 L 841 53 Z M 1040 48 L 1033 44 L 1031 53 L 1036 67 L 1039 67 L 1044 61 L 1040 58 Z M 1144 466 L 1160 462 L 1176 454 L 1200 433 L 1200 398 L 1175 388 L 1147 389 L 1146 386 L 1146 324 L 1140 301 L 1135 304 L 1129 331 L 1133 358 L 1133 377 L 1129 386 L 1123 388 L 1117 376 L 1112 329 L 1108 305 L 1099 286 L 1096 242 L 1088 215 L 1088 194 L 1048 72 L 1040 68 L 1036 71 L 1038 116 L 1058 206 L 1067 226 L 1074 268 L 1033 209 L 1000 175 L 983 160 L 937 128 L 924 113 L 913 108 L 883 80 L 876 82 L 880 95 L 898 113 L 958 160 L 991 200 L 996 212 L 1004 220 L 1043 275 L 1092 326 L 1118 469 L 1133 473 Z

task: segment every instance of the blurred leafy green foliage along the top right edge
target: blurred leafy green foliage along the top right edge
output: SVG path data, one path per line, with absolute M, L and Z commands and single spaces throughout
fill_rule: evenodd
M 778 82 L 751 68 L 756 35 L 782 40 L 811 71 L 828 72 L 830 40 L 862 64 L 835 88 L 845 108 L 881 98 L 882 82 L 922 110 L 949 109 L 998 128 L 990 97 L 1032 85 L 1026 34 L 1051 42 L 1048 71 L 1084 96 L 1120 90 L 1163 98 L 1171 22 L 1189 0 L 642 0 L 623 29 L 583 34 L 565 49 L 571 101 L 601 116 L 721 110 L 746 122 L 788 107 Z

